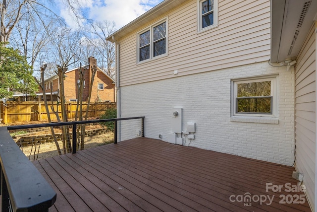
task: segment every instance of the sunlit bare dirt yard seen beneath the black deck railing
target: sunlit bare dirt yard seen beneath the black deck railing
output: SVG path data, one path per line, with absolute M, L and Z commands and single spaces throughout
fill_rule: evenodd
M 86 137 L 85 148 L 91 148 L 93 146 L 104 145 L 111 142 L 113 142 L 113 133 Z M 58 143 L 59 143 L 59 147 L 62 148 L 62 142 L 58 141 Z M 58 155 L 57 148 L 54 142 L 41 143 L 41 144 L 37 143 L 36 145 L 24 146 L 20 148 L 23 151 L 23 153 L 31 161 Z

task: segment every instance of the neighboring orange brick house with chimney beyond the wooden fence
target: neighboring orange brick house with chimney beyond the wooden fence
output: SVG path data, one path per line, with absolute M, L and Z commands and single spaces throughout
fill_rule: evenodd
M 86 68 L 84 76 L 84 90 L 83 90 L 83 101 L 88 101 L 89 96 L 89 83 L 92 77 L 91 68 L 97 65 L 97 60 L 93 57 L 88 59 L 88 64 L 82 68 Z M 79 72 L 78 68 L 66 71 L 64 79 L 64 92 L 66 101 L 77 101 L 78 98 L 78 83 L 79 83 Z M 59 92 L 59 79 L 57 75 L 54 75 L 45 80 L 45 93 L 48 101 L 56 101 Z M 92 86 L 91 101 L 109 101 L 115 102 L 115 90 L 114 80 L 108 76 L 104 71 L 97 67 L 97 73 L 94 78 L 94 84 Z M 52 94 L 52 95 L 51 95 Z M 43 91 L 39 89 L 37 92 L 39 101 L 43 101 Z

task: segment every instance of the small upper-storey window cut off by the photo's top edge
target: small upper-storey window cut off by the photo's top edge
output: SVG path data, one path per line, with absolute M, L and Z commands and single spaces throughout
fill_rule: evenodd
M 198 32 L 218 26 L 218 0 L 197 0 Z

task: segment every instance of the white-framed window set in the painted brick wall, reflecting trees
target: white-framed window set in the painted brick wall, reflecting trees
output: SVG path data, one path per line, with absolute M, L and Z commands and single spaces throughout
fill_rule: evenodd
M 232 80 L 232 116 L 276 117 L 277 76 Z

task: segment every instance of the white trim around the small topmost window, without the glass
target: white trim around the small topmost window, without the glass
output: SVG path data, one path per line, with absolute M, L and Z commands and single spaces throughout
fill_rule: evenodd
M 202 5 L 206 0 L 197 0 L 197 32 L 205 32 L 218 26 L 218 0 L 213 0 L 213 24 L 203 28 Z

